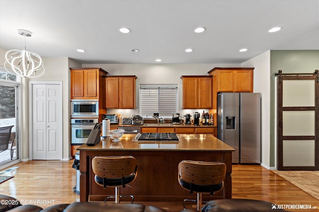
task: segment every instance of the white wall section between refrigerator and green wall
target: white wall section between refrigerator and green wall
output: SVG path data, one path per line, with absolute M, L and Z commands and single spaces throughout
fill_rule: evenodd
M 270 51 L 241 64 L 254 67 L 254 92 L 261 93 L 262 102 L 262 165 L 270 169 Z

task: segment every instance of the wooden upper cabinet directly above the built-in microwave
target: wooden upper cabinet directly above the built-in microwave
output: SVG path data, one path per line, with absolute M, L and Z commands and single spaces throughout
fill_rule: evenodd
M 70 68 L 71 99 L 99 99 L 102 76 L 108 72 L 100 68 Z

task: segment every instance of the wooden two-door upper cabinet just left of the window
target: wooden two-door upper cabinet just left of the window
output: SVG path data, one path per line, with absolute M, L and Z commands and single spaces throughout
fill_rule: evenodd
M 106 76 L 104 108 L 134 109 L 137 76 Z

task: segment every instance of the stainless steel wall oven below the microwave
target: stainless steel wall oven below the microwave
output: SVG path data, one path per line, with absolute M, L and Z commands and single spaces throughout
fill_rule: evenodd
M 71 145 L 86 143 L 91 130 L 98 122 L 99 119 L 93 118 L 71 119 Z

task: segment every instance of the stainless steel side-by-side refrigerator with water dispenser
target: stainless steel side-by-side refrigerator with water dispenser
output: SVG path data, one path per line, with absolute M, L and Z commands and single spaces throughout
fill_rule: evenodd
M 217 95 L 217 137 L 235 148 L 233 163 L 261 162 L 260 93 Z

